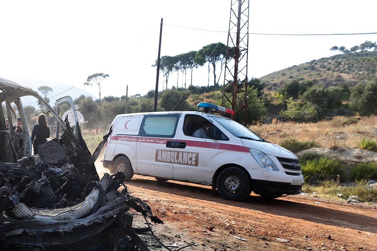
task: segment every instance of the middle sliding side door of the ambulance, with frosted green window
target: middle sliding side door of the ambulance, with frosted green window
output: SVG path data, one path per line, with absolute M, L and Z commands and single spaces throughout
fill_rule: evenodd
M 173 177 L 173 162 L 179 114 L 145 115 L 136 146 L 138 173 L 162 178 Z

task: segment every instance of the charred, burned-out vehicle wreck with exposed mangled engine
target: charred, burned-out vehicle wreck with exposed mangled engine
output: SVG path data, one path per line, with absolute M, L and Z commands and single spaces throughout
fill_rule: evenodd
M 40 146 L 39 155 L 32 155 L 23 96 L 34 96 L 57 121 L 57 137 Z M 144 216 L 145 231 L 151 230 L 148 221 L 162 221 L 130 195 L 124 173 L 105 173 L 100 179 L 95 169 L 111 129 L 92 155 L 78 123 L 71 128 L 67 118 L 63 121 L 32 89 L 0 78 L 0 101 L 6 107 L 6 113 L 0 111 L 0 251 L 62 250 L 106 241 L 110 250 L 117 250 L 123 236 L 132 240 L 131 246 L 149 251 L 132 228 L 128 211 L 133 208 Z M 23 123 L 20 133 L 12 130 L 16 116 Z

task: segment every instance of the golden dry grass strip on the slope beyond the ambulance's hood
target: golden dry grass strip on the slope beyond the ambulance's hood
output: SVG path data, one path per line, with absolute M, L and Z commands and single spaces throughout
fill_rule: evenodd
M 357 148 L 363 136 L 377 140 L 377 116 L 340 116 L 317 123 L 279 122 L 273 119 L 271 124 L 250 126 L 250 129 L 276 144 L 294 138 L 299 141 L 314 140 L 323 148 Z

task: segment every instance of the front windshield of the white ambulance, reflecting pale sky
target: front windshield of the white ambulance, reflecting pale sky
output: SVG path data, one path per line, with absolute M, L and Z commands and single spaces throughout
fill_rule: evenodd
M 227 119 L 224 117 L 212 117 L 216 120 L 220 125 L 224 126 L 231 134 L 236 137 L 246 138 L 250 140 L 257 140 L 257 141 L 265 141 L 263 138 L 259 137 L 250 129 L 246 128 L 245 126 L 235 122 L 234 120 Z

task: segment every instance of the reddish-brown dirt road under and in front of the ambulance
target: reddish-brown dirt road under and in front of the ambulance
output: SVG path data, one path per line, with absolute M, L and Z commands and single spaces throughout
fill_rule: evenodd
M 126 185 L 164 221 L 153 226 L 163 243 L 197 245 L 186 251 L 377 250 L 375 205 L 304 194 L 272 200 L 251 194 L 234 202 L 209 186 L 140 175 Z M 144 227 L 143 222 L 134 225 Z

